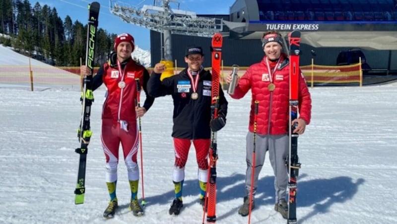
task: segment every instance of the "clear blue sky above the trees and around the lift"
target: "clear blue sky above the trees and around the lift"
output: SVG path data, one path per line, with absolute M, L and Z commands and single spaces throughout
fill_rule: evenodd
M 118 16 L 112 14 L 109 10 L 109 0 L 97 0 L 101 4 L 99 14 L 99 27 L 106 30 L 108 33 L 130 33 L 134 39 L 135 44 L 143 50 L 150 49 L 149 30 L 135 26 L 130 23 L 123 22 Z M 29 1 L 32 7 L 37 1 Z M 72 21 L 78 20 L 85 24 L 87 21 L 87 5 L 91 0 L 41 0 L 40 5 L 49 5 L 55 7 L 62 20 L 65 20 L 66 15 L 69 15 Z M 121 0 L 119 2 L 128 2 L 132 6 L 137 5 L 138 8 L 142 5 L 152 5 L 153 0 Z M 180 9 L 187 11 L 195 11 L 197 14 L 229 14 L 229 7 L 235 0 L 179 0 Z M 175 3 L 170 6 L 175 8 Z

